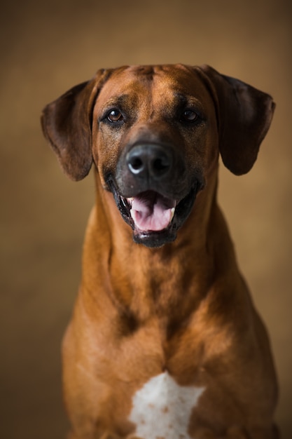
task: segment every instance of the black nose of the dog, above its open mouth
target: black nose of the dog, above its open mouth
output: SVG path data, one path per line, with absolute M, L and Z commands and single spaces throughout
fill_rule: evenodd
M 130 172 L 137 177 L 152 177 L 158 180 L 172 169 L 172 151 L 158 144 L 139 144 L 126 156 Z

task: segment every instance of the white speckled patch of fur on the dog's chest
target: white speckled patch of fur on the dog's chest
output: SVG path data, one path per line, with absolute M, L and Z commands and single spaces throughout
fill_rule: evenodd
M 164 372 L 151 378 L 132 400 L 130 421 L 143 439 L 191 439 L 190 414 L 204 387 L 179 386 Z

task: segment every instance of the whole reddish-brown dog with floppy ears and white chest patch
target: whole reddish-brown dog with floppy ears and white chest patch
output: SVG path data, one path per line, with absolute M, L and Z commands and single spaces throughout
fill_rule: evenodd
M 101 70 L 44 110 L 65 173 L 93 161 L 97 185 L 63 345 L 70 438 L 278 437 L 267 334 L 216 203 L 219 153 L 247 173 L 273 109 L 165 65 Z

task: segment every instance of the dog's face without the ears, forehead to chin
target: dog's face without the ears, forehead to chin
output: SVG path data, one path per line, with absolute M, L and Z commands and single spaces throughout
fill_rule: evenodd
M 214 102 L 183 66 L 119 69 L 93 110 L 93 156 L 105 189 L 148 246 L 174 241 L 218 160 Z

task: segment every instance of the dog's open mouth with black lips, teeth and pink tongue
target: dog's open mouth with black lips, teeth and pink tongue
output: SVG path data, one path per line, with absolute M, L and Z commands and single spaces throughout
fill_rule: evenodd
M 119 194 L 113 180 L 108 180 L 108 184 L 120 214 L 132 227 L 134 241 L 151 248 L 176 239 L 177 230 L 190 214 L 199 187 L 195 184 L 187 196 L 176 200 L 153 190 L 125 198 Z

